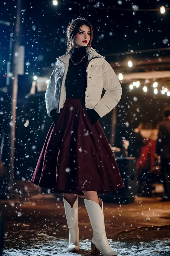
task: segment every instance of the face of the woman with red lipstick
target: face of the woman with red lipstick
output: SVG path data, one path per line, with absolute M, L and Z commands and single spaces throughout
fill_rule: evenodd
M 82 25 L 74 38 L 74 48 L 87 46 L 90 41 L 90 34 L 90 28 L 87 25 Z M 87 42 L 84 43 L 85 40 Z

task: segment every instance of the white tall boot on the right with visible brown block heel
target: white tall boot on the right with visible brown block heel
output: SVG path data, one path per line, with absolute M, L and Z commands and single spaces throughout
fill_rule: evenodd
M 118 255 L 111 249 L 106 237 L 102 199 L 99 198 L 100 205 L 88 199 L 84 199 L 84 203 L 93 229 L 91 254 L 99 256 L 101 252 L 103 256 Z

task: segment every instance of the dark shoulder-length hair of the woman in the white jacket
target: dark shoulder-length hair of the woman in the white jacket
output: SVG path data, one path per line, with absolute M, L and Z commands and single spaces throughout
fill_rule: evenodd
M 74 48 L 74 38 L 75 38 L 76 34 L 80 31 L 80 27 L 82 25 L 86 25 L 90 29 L 90 34 L 91 34 L 90 41 L 87 44 L 87 46 L 91 48 L 91 41 L 93 39 L 93 27 L 87 21 L 86 18 L 82 18 L 79 16 L 78 18 L 72 20 L 72 22 L 70 23 L 70 25 L 68 25 L 68 27 L 66 29 L 66 39 L 65 39 L 65 43 L 67 45 L 66 53 L 70 52 Z

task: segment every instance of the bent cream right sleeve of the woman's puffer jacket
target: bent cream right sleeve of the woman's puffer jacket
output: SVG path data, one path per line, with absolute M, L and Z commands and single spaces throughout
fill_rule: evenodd
M 106 90 L 103 98 L 95 105 L 94 110 L 103 117 L 109 113 L 121 99 L 122 87 L 118 77 L 111 65 L 104 60 L 103 69 L 103 88 Z

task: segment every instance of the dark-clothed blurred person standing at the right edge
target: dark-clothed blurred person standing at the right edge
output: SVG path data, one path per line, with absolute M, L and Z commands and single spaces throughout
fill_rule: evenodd
M 164 120 L 158 123 L 156 153 L 160 156 L 165 194 L 163 201 L 170 200 L 170 110 L 164 111 Z

